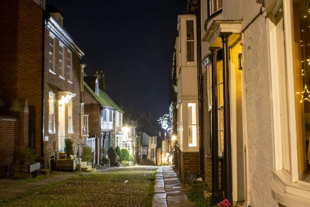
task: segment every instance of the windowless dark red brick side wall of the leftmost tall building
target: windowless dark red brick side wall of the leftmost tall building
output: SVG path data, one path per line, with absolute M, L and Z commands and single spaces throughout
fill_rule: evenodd
M 6 101 L 27 98 L 30 139 L 41 139 L 42 9 L 30 0 L 3 0 L 0 12 L 0 90 Z M 3 110 L 3 113 L 8 110 Z M 33 146 L 37 154 L 40 148 Z

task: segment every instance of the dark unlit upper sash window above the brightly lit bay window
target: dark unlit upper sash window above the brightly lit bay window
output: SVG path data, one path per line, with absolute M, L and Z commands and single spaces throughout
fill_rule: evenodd
M 194 20 L 186 20 L 186 61 L 194 62 Z

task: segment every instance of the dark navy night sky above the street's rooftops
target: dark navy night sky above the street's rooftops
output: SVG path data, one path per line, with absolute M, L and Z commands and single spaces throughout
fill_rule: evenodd
M 106 91 L 121 106 L 152 119 L 173 99 L 172 52 L 186 0 L 47 0 L 85 52 L 86 74 L 103 70 Z

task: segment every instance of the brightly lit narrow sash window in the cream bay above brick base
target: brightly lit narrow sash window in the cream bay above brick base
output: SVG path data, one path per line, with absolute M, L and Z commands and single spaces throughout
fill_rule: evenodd
M 188 103 L 188 146 L 197 146 L 196 103 Z

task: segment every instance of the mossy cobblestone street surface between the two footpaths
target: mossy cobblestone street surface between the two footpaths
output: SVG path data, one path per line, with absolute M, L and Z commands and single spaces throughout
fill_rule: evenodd
M 120 167 L 102 173 L 75 176 L 2 201 L 0 205 L 148 206 L 151 205 L 153 189 L 150 178 L 156 168 L 156 166 Z

